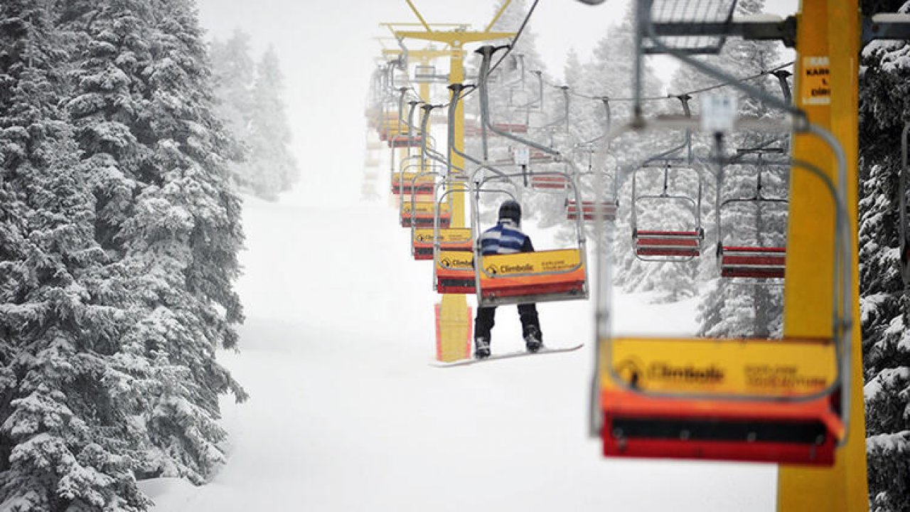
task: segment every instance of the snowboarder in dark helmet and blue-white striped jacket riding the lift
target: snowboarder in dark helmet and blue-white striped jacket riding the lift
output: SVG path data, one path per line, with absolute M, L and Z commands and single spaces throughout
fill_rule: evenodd
M 489 254 L 512 254 L 515 252 L 533 252 L 531 237 L 521 232 L 521 205 L 513 200 L 503 201 L 500 205 L 500 220 L 495 226 L 480 235 L 480 251 Z M 474 319 L 474 357 L 490 357 L 490 330 L 496 307 L 477 308 Z M 518 314 L 521 318 L 521 336 L 524 338 L 528 352 L 537 352 L 543 346 L 541 323 L 537 318 L 536 304 L 519 304 Z

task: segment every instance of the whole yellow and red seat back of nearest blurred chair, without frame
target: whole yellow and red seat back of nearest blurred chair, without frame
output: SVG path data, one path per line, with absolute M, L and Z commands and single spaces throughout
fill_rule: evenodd
M 845 433 L 831 339 L 606 343 L 605 456 L 831 466 Z

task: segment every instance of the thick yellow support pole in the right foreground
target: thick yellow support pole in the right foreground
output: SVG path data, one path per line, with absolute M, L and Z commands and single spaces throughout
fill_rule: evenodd
M 840 140 L 847 159 L 846 199 L 856 254 L 858 86 L 860 20 L 857 0 L 804 0 L 798 16 L 795 101 L 809 119 Z M 822 70 L 819 74 L 817 71 Z M 824 70 L 829 72 L 824 75 Z M 794 158 L 809 161 L 836 181 L 834 156 L 816 138 L 794 138 Z M 840 184 L 842 187 L 844 184 Z M 821 182 L 795 170 L 790 185 L 787 271 L 784 282 L 784 336 L 827 336 L 834 298 L 834 210 Z M 830 468 L 781 466 L 780 512 L 867 510 L 862 346 L 859 333 L 858 268 L 851 269 L 854 330 L 850 425 L 847 442 Z

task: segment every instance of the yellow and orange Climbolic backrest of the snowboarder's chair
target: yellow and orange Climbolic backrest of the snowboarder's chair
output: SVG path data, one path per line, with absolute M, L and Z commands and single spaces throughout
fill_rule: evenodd
M 481 260 L 481 305 L 587 299 L 579 249 L 491 254 Z

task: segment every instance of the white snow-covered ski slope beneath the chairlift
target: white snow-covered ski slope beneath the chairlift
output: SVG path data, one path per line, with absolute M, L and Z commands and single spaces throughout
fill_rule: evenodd
M 430 262 L 410 260 L 397 210 L 314 202 L 246 200 L 248 320 L 220 358 L 251 397 L 223 402 L 228 460 L 208 485 L 142 483 L 155 510 L 774 509 L 775 466 L 602 458 L 591 302 L 539 306 L 544 342 L 580 351 L 431 367 Z M 646 299 L 615 297 L 618 331 L 693 331 L 693 302 Z M 494 353 L 520 348 L 514 308 L 497 321 Z

